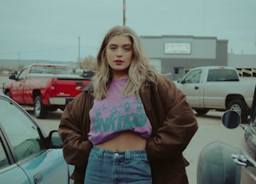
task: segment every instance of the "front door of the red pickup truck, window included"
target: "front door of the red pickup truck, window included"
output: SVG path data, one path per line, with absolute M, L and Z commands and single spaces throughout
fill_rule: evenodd
M 18 78 L 13 82 L 11 98 L 19 104 L 24 103 L 24 85 L 26 80 L 26 69 L 22 70 L 20 74 L 18 74 Z

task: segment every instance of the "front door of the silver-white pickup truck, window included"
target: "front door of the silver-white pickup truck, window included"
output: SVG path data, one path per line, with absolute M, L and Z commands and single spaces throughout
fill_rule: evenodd
M 202 107 L 203 95 L 202 85 L 200 83 L 202 70 L 191 70 L 185 78 L 182 80 L 182 85 L 180 90 L 186 94 L 186 100 L 189 102 L 190 106 Z

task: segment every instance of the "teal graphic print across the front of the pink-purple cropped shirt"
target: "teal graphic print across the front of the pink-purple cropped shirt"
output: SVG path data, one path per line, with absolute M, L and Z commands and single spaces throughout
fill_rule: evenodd
M 152 129 L 141 98 L 134 96 L 94 100 L 90 121 L 89 139 L 93 144 L 105 142 L 126 130 L 149 138 Z

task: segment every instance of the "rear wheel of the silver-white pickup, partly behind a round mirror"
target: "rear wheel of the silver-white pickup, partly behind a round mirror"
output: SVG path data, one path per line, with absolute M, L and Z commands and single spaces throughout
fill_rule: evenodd
M 231 100 L 227 109 L 237 111 L 241 115 L 242 123 L 248 122 L 247 106 L 242 100 Z

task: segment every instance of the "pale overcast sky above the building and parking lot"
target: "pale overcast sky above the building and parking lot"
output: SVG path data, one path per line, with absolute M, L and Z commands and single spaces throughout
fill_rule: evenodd
M 122 26 L 122 4 L 0 0 L 0 59 L 77 61 L 79 40 L 80 58 L 95 56 L 106 31 Z M 234 54 L 256 54 L 255 18 L 256 0 L 126 0 L 126 26 L 138 35 L 217 37 Z

